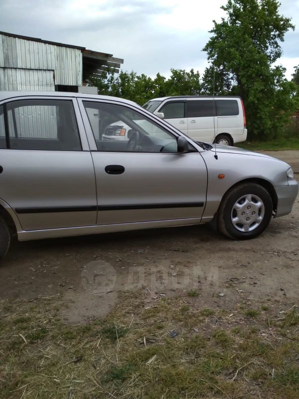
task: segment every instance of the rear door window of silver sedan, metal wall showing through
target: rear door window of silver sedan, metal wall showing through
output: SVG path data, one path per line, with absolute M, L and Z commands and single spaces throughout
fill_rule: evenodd
M 19 100 L 7 104 L 10 148 L 81 151 L 70 100 Z

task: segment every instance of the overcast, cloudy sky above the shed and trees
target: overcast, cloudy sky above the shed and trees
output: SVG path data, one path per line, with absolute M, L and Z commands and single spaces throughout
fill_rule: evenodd
M 0 30 L 86 47 L 124 58 L 123 70 L 169 76 L 170 68 L 203 72 L 212 20 L 226 0 L 0 0 Z M 283 57 L 290 79 L 299 65 L 299 0 L 282 0 L 292 17 Z

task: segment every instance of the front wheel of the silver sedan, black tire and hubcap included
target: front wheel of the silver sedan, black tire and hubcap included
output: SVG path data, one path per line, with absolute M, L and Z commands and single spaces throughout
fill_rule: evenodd
M 240 184 L 223 197 L 217 212 L 217 226 L 232 239 L 255 238 L 268 226 L 273 212 L 270 194 L 255 183 Z

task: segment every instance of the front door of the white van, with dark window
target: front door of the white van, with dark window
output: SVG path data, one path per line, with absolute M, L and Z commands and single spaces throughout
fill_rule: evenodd
M 163 112 L 165 121 L 187 135 L 188 122 L 185 115 L 185 103 L 185 100 L 167 101 L 157 112 Z

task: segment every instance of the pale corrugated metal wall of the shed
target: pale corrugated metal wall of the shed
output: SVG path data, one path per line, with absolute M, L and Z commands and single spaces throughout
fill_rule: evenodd
M 53 84 L 82 85 L 80 49 L 0 34 L 0 90 L 54 90 Z

